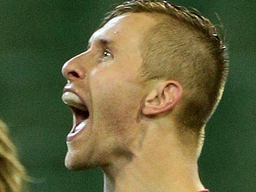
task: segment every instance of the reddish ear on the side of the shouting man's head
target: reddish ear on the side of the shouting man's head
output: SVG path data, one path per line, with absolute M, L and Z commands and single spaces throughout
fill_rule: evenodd
M 161 82 L 145 99 L 142 113 L 146 116 L 172 110 L 182 97 L 181 85 L 176 81 Z

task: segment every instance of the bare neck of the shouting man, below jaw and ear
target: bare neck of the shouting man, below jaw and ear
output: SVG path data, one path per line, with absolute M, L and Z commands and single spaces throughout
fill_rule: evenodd
M 204 187 L 197 158 L 188 155 L 170 129 L 149 127 L 132 158 L 104 168 L 104 192 L 198 191 Z M 134 149 L 136 148 L 136 149 Z

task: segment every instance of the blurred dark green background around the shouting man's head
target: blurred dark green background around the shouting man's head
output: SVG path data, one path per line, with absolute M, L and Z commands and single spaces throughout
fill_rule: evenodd
M 81 53 L 104 14 L 123 1 L 0 1 L 1 118 L 35 180 L 30 191 L 102 191 L 100 169 L 64 168 L 72 124 L 61 66 Z M 206 130 L 200 175 L 214 191 L 256 191 L 256 3 L 179 1 L 227 29 L 230 74 Z

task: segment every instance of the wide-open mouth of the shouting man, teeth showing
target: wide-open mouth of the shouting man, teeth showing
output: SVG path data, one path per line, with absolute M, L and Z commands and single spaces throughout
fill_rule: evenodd
M 68 137 L 73 137 L 86 127 L 90 112 L 87 105 L 73 92 L 63 93 L 62 100 L 70 106 L 73 113 L 73 127 L 68 134 Z

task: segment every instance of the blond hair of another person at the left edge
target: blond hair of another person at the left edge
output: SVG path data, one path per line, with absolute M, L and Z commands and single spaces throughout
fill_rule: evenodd
M 26 178 L 25 169 L 17 158 L 7 127 L 0 120 L 0 191 L 21 191 L 22 181 Z

